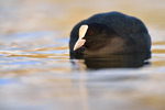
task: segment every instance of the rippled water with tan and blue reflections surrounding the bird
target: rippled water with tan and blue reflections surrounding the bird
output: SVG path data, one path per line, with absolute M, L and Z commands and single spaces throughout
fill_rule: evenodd
M 0 110 L 164 110 L 164 6 L 163 0 L 1 0 Z M 97 69 L 90 61 L 69 59 L 72 28 L 113 10 L 144 21 L 152 58 Z

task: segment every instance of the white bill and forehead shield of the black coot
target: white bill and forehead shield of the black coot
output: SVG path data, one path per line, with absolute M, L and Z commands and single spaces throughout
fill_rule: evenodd
M 79 28 L 79 38 L 74 46 L 74 51 L 78 50 L 86 43 L 86 40 L 84 40 L 82 37 L 86 35 L 87 30 L 88 30 L 88 25 L 81 25 Z

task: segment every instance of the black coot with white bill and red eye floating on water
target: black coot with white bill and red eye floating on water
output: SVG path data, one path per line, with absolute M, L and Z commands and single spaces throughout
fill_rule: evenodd
M 70 56 L 101 57 L 151 52 L 144 23 L 120 12 L 99 13 L 76 24 L 70 33 Z

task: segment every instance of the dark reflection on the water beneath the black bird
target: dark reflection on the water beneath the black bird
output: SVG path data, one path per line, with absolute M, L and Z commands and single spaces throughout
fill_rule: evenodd
M 144 65 L 150 65 L 147 59 L 151 58 L 151 53 L 138 53 L 138 54 L 118 54 L 108 55 L 101 57 L 86 57 L 82 55 L 70 55 L 72 59 L 84 59 L 84 62 L 75 63 L 73 65 L 78 66 L 84 63 L 87 68 L 139 68 Z

